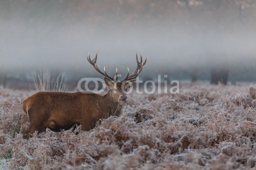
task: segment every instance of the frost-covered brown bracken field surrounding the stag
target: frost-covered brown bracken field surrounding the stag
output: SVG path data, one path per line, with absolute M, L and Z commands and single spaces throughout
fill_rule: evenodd
M 250 169 L 256 162 L 256 90 L 183 84 L 180 94 L 131 94 L 121 117 L 22 139 L 31 92 L 0 88 L 0 168 Z

